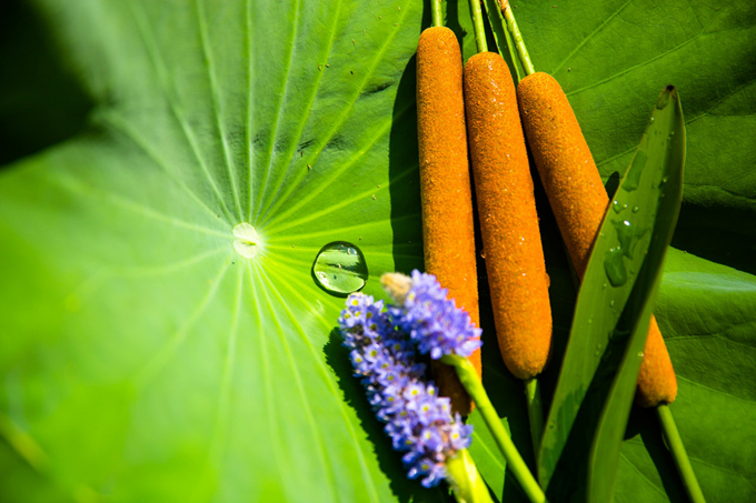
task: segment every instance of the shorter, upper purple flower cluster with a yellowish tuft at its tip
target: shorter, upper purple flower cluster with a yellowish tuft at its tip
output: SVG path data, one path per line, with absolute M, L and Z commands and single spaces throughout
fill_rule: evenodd
M 467 358 L 483 345 L 481 330 L 452 299 L 447 299 L 449 291 L 432 274 L 415 270 L 410 279 L 389 273 L 381 282 L 398 304 L 389 308 L 392 322 L 409 334 L 421 354 L 434 360 L 447 354 Z

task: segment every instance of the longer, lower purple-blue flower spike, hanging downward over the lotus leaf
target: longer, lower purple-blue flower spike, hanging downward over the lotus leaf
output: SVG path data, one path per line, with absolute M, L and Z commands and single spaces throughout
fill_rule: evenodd
M 451 415 L 449 399 L 425 382 L 425 365 L 415 362 L 415 345 L 384 310 L 382 301 L 352 293 L 339 318 L 344 345 L 350 350 L 355 375 L 386 424 L 394 449 L 410 479 L 426 487 L 446 476 L 446 463 L 471 442 L 472 426 Z

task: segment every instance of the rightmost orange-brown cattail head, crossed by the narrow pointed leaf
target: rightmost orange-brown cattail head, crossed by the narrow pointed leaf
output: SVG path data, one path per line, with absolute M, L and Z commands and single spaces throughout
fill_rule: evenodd
M 534 73 L 519 83 L 517 98 L 540 180 L 583 280 L 609 198 L 559 83 L 548 73 Z M 677 379 L 669 353 L 651 318 L 636 402 L 656 406 L 673 402 L 676 395 Z

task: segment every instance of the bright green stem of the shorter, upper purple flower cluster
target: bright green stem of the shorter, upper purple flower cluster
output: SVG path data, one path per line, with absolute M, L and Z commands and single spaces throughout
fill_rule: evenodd
M 480 382 L 480 378 L 478 378 L 478 372 L 475 370 L 475 366 L 472 366 L 467 359 L 456 354 L 442 356 L 441 362 L 447 365 L 452 365 L 456 369 L 459 381 L 475 401 L 486 425 L 494 435 L 494 439 L 496 439 L 496 443 L 498 444 L 504 459 L 507 460 L 507 469 L 515 475 L 515 479 L 517 479 L 517 482 L 520 487 L 523 487 L 528 500 L 533 503 L 545 502 L 546 495 L 544 494 L 544 491 L 541 491 L 538 482 L 536 482 L 533 473 L 530 473 L 528 466 L 525 464 L 523 456 L 517 451 L 511 437 L 504 429 L 504 424 L 501 424 L 501 420 L 496 413 L 496 409 L 494 409 L 494 405 L 488 399 L 488 394 L 483 388 L 483 383 Z

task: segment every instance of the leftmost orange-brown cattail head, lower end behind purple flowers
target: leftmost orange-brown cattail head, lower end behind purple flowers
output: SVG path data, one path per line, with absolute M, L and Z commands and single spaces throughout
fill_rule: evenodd
M 462 101 L 462 59 L 448 28 L 429 28 L 417 47 L 417 129 L 426 272 L 449 290 L 478 326 L 472 197 Z M 470 356 L 480 375 L 480 351 Z M 441 394 L 461 414 L 470 401 L 454 369 L 432 365 Z

